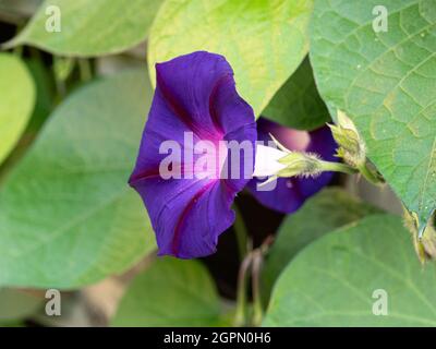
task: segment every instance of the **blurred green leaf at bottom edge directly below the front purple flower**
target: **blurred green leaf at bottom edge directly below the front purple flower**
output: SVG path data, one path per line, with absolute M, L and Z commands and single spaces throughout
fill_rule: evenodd
M 213 279 L 196 261 L 158 257 L 133 281 L 112 326 L 217 326 L 220 303 Z

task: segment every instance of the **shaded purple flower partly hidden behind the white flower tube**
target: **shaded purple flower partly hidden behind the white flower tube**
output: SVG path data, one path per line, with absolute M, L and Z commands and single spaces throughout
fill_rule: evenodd
M 324 160 L 337 161 L 335 152 L 337 145 L 328 127 L 315 131 L 298 131 L 282 127 L 265 118 L 257 120 L 257 139 L 263 142 L 270 142 L 272 134 L 284 147 L 290 151 L 316 153 Z M 264 143 L 266 144 L 266 143 Z M 304 201 L 317 193 L 327 185 L 332 172 L 323 172 L 316 178 L 279 178 L 275 189 L 259 186 L 264 180 L 253 179 L 247 189 L 258 202 L 268 208 L 290 214 L 295 212 Z

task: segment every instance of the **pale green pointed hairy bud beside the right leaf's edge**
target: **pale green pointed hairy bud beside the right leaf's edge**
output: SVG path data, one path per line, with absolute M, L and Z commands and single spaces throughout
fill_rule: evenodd
M 337 124 L 328 124 L 332 136 L 338 143 L 337 156 L 354 168 L 361 168 L 366 163 L 365 142 L 359 134 L 353 121 L 338 110 Z

